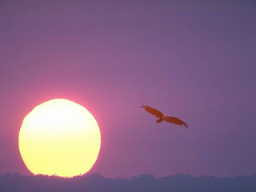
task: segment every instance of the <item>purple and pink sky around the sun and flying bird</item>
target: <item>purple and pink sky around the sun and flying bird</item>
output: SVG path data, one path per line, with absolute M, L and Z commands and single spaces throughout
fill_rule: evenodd
M 90 110 L 91 171 L 256 173 L 254 1 L 1 1 L 0 173 L 30 174 L 22 119 L 66 98 Z M 156 124 L 153 106 L 187 122 Z

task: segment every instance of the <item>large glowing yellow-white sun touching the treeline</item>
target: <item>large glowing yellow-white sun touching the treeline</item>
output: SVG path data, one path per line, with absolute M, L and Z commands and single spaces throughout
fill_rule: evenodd
M 85 107 L 56 98 L 34 107 L 26 115 L 18 146 L 33 174 L 71 178 L 94 166 L 101 134 L 94 116 Z

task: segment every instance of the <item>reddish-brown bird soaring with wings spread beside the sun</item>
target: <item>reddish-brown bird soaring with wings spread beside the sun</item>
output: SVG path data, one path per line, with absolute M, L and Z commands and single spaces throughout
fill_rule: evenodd
M 146 110 L 146 112 L 153 114 L 155 117 L 157 117 L 158 118 L 158 120 L 156 121 L 157 123 L 166 121 L 179 126 L 185 126 L 186 128 L 188 128 L 189 126 L 188 124 L 186 124 L 186 122 L 183 122 L 179 118 L 171 117 L 168 114 L 162 114 L 162 112 L 154 109 L 153 107 L 142 105 L 141 108 Z

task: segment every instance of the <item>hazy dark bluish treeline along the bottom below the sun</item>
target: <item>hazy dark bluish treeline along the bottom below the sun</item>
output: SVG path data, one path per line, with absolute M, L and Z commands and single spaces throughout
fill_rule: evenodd
M 176 174 L 164 178 L 141 174 L 133 178 L 104 178 L 101 174 L 86 174 L 75 178 L 23 176 L 21 174 L 0 174 L 1 192 L 255 192 L 256 174 L 234 178 L 209 176 L 191 177 Z

